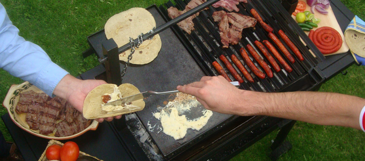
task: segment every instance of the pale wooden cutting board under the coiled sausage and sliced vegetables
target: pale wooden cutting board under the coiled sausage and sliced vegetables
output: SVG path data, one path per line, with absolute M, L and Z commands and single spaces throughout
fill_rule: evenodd
M 301 0 L 301 1 L 304 1 L 307 4 L 307 0 Z M 307 8 L 305 9 L 305 11 L 311 11 L 311 7 L 308 4 L 307 4 Z M 349 51 L 349 46 L 347 46 L 347 43 L 345 41 L 345 36 L 343 35 L 341 27 L 337 22 L 337 19 L 332 11 L 331 6 L 327 9 L 327 11 L 328 11 L 328 14 L 322 14 L 322 13 L 319 13 L 316 9 L 314 9 L 314 17 L 319 18 L 321 21 L 318 24 L 318 27 L 313 28 L 312 30 L 316 30 L 319 27 L 328 26 L 328 27 L 332 27 L 335 30 L 337 30 L 342 37 L 341 48 L 332 54 L 326 54 L 324 56 L 345 53 L 345 52 Z M 295 16 L 292 15 L 292 17 L 295 20 Z M 309 34 L 309 31 L 304 31 L 304 32 L 306 32 L 307 35 Z

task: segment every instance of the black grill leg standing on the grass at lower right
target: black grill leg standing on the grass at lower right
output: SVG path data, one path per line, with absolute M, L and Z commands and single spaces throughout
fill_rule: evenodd
M 273 150 L 270 154 L 271 160 L 277 160 L 282 154 L 292 149 L 290 142 L 285 141 L 285 139 L 287 138 L 289 131 L 292 129 L 295 122 L 295 120 L 285 119 L 279 123 L 278 126 L 280 127 L 280 131 L 271 145 L 271 149 Z

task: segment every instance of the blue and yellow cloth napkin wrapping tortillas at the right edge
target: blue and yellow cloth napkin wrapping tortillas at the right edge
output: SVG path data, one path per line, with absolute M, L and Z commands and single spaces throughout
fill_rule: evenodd
M 344 35 L 355 61 L 365 66 L 365 22 L 355 15 Z

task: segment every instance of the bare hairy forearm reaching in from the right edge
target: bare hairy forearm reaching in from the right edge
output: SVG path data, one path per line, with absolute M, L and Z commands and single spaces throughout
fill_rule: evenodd
M 259 93 L 257 97 L 262 103 L 257 115 L 356 129 L 360 129 L 358 119 L 365 105 L 365 99 L 337 93 L 298 91 Z

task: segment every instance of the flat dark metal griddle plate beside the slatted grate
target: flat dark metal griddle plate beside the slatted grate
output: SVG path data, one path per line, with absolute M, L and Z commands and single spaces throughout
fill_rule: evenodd
M 166 23 L 161 16 L 162 13 L 158 12 L 155 5 L 147 8 L 147 10 L 154 16 L 157 27 Z M 135 33 L 131 36 L 137 37 L 139 34 Z M 157 58 L 148 64 L 130 64 L 123 77 L 123 83 L 130 83 L 136 86 L 139 91 L 168 91 L 176 90 L 177 85 L 198 81 L 202 76 L 208 75 L 199 67 L 171 28 L 162 31 L 159 35 L 162 47 Z M 90 46 L 97 52 L 96 54 L 99 57 L 103 55 L 101 43 L 104 40 L 106 40 L 104 30 L 88 37 Z M 121 63 L 121 67 L 124 67 L 124 62 Z M 209 135 L 208 131 L 219 129 L 215 127 L 220 126 L 225 120 L 232 117 L 232 115 L 214 112 L 207 125 L 200 131 L 189 129 L 183 139 L 176 141 L 173 137 L 157 130 L 157 126 L 161 127 L 161 122 L 153 117 L 153 113 L 158 112 L 157 107 L 164 106 L 163 102 L 168 100 L 169 95 L 154 95 L 145 100 L 146 106 L 142 111 L 136 112 L 146 129 L 149 127 L 148 124 L 156 125 L 153 131 L 147 131 L 164 156 L 171 156 L 193 146 L 197 140 Z M 203 109 L 204 107 L 193 108 L 191 113 L 184 114 L 187 118 L 200 117 L 203 115 L 201 112 Z

